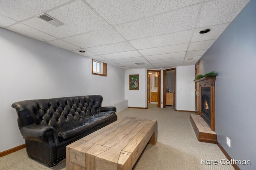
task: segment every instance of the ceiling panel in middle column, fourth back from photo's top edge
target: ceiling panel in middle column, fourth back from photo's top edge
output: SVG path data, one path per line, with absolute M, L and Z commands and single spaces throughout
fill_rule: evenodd
M 178 44 L 178 45 L 170 45 L 165 47 L 156 47 L 151 49 L 142 49 L 138 50 L 140 54 L 147 55 L 158 55 L 158 54 L 167 54 L 167 53 L 178 53 L 182 51 L 186 51 L 188 49 L 188 43 Z

